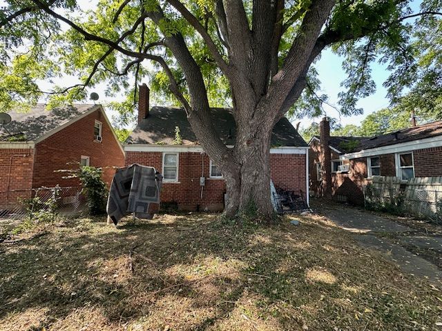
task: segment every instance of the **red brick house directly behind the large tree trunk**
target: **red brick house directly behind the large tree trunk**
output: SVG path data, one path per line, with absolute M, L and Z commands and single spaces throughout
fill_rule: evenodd
M 181 210 L 222 210 L 226 185 L 217 166 L 198 144 L 186 113 L 181 108 L 149 108 L 149 90 L 140 86 L 138 124 L 124 144 L 126 165 L 139 163 L 155 167 L 163 176 L 162 204 Z M 213 108 L 213 121 L 227 146 L 235 144 L 235 121 L 231 110 Z M 182 143 L 176 144 L 175 128 Z M 308 146 L 291 123 L 276 123 L 271 138 L 271 179 L 286 190 L 308 197 Z M 200 185 L 204 181 L 204 185 Z

